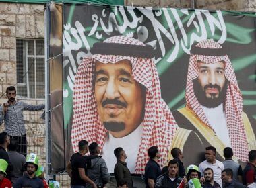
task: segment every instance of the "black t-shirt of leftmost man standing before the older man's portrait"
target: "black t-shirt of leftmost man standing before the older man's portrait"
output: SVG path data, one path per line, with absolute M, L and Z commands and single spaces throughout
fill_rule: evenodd
M 86 172 L 86 158 L 77 152 L 71 156 L 70 162 L 72 169 L 71 185 L 86 186 L 86 182 L 80 178 L 78 171 L 79 168 L 84 168 Z

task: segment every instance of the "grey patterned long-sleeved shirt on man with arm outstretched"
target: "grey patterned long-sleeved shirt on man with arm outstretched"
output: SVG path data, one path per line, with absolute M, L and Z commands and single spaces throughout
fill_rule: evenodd
M 23 119 L 23 111 L 39 111 L 44 105 L 28 105 L 22 101 L 16 101 L 14 105 L 8 105 L 8 110 L 3 117 L 3 105 L 0 106 L 0 125 L 5 121 L 5 132 L 9 136 L 22 136 L 26 134 Z

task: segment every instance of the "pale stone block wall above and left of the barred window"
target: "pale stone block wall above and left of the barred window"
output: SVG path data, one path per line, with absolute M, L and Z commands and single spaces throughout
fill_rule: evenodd
M 0 96 L 16 85 L 16 38 L 44 38 L 44 5 L 0 3 Z

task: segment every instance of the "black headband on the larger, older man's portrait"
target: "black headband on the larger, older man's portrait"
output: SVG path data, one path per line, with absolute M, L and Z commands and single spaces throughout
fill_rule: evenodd
M 96 42 L 91 49 L 92 54 L 131 56 L 137 58 L 153 58 L 152 46 L 139 46 L 133 44 Z

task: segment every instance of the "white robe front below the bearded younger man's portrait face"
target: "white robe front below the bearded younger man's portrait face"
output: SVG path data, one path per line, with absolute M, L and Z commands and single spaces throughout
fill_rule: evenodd
M 218 107 L 201 107 L 218 138 L 222 140 L 226 147 L 231 147 L 231 142 L 228 135 L 228 127 L 226 125 L 226 114 L 223 109 L 223 103 L 218 105 Z

